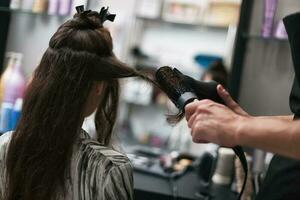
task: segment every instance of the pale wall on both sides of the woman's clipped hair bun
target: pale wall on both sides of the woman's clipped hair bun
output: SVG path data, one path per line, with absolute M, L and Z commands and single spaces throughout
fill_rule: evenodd
M 90 8 L 99 10 L 101 5 L 110 6 L 110 11 L 118 13 L 115 23 L 107 22 L 105 25 L 112 30 L 115 52 L 124 58 L 124 45 L 129 34 L 130 14 L 135 0 L 90 0 Z M 49 15 L 36 15 L 26 12 L 13 12 L 9 35 L 7 40 L 7 51 L 17 51 L 24 54 L 23 66 L 26 76 L 30 76 L 32 70 L 39 63 L 48 42 L 57 28 L 70 17 L 58 17 Z

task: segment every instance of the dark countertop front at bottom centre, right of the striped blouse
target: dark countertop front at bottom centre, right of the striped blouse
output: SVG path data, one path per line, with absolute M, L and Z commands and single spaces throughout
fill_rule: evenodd
M 187 172 L 182 177 L 174 180 L 173 183 L 167 178 L 134 171 L 136 200 L 231 200 L 236 197 L 227 187 L 215 186 L 214 191 L 218 195 L 215 195 L 214 198 L 203 195 L 197 196 L 196 194 L 200 189 L 201 191 L 208 191 L 203 185 L 201 186 L 201 181 L 194 171 Z

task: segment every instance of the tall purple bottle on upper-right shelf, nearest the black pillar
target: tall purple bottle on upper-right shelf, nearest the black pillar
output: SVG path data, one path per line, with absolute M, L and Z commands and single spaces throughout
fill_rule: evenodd
M 261 33 L 265 38 L 272 36 L 277 4 L 278 0 L 264 0 L 264 20 Z

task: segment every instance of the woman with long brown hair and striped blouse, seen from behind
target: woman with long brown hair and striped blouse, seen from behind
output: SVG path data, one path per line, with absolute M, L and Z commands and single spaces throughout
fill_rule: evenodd
M 51 38 L 16 131 L 0 138 L 0 199 L 133 199 L 129 160 L 108 146 L 118 78 L 147 78 L 118 61 L 102 24 L 84 11 Z M 98 141 L 81 129 L 96 109 Z

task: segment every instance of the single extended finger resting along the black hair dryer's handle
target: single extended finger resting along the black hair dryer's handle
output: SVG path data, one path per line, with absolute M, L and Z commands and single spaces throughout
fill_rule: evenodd
M 219 96 L 223 99 L 225 102 L 226 106 L 228 106 L 231 110 L 233 110 L 235 113 L 248 116 L 249 114 L 246 113 L 239 104 L 237 104 L 232 97 L 230 96 L 229 92 L 225 90 L 225 88 L 222 85 L 217 86 L 217 92 Z

